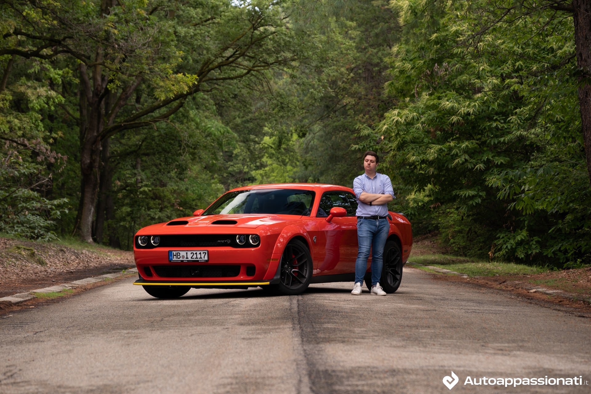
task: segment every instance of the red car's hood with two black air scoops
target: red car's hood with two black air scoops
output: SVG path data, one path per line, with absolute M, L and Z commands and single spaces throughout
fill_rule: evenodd
M 239 227 L 244 229 L 256 229 L 263 224 L 275 224 L 287 222 L 299 218 L 299 216 L 282 217 L 283 215 L 249 214 L 249 215 L 206 215 L 196 217 L 182 217 L 165 223 L 165 226 L 180 227 Z

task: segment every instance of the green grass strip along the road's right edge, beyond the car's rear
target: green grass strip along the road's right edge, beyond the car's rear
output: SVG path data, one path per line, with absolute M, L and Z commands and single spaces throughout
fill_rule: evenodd
M 466 257 L 452 255 L 423 255 L 411 256 L 411 262 L 423 265 L 432 265 L 465 273 L 468 276 L 495 276 L 495 275 L 533 275 L 547 272 L 547 268 L 524 264 L 478 261 Z

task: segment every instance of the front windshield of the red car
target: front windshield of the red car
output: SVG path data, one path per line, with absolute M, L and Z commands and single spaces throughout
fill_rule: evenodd
M 297 189 L 230 191 L 202 215 L 267 213 L 310 216 L 314 195 L 313 191 Z

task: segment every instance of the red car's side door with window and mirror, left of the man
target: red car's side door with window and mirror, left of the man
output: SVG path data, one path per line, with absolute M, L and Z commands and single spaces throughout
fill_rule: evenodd
M 334 217 L 326 222 L 326 217 L 333 207 L 342 207 L 347 211 L 345 217 Z M 319 229 L 316 275 L 337 275 L 355 272 L 357 258 L 357 201 L 348 191 L 326 191 L 320 197 L 320 206 L 316 214 Z

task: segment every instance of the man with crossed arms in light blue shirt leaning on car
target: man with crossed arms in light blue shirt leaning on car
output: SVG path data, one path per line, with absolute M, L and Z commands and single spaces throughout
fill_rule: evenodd
M 371 292 L 372 295 L 386 295 L 379 285 L 382 275 L 382 260 L 384 246 L 388 238 L 390 225 L 388 223 L 388 203 L 394 199 L 392 181 L 388 175 L 375 171 L 379 158 L 373 151 L 363 155 L 365 174 L 353 180 L 353 191 L 357 197 L 357 239 L 359 252 L 355 262 L 355 285 L 351 294 L 361 294 L 363 276 L 367 270 L 369 250 L 372 250 L 371 262 Z

